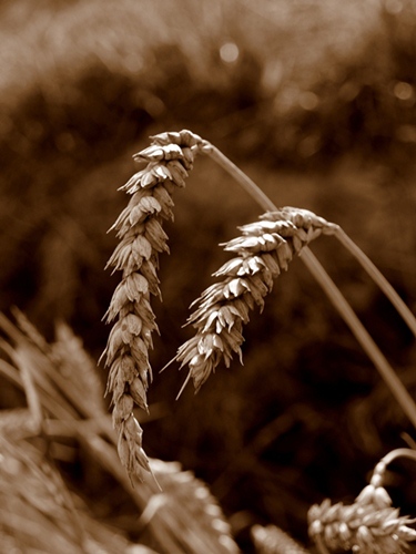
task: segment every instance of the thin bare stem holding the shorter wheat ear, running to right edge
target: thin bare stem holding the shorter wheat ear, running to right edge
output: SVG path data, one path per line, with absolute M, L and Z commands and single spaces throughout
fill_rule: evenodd
M 339 227 L 335 232 L 335 237 L 343 246 L 359 261 L 363 268 L 372 277 L 374 283 L 383 290 L 386 297 L 390 300 L 398 314 L 403 317 L 410 331 L 416 337 L 416 318 L 408 309 L 406 304 L 398 296 L 384 275 L 376 268 L 373 261 L 364 254 L 364 252 L 352 240 L 348 235 Z

